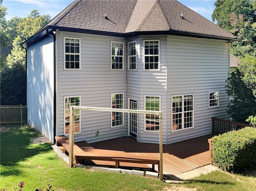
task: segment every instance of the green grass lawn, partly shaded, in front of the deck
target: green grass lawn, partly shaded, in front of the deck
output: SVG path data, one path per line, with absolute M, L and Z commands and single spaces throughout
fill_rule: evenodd
M 50 144 L 32 144 L 40 136 L 31 128 L 1 127 L 0 189 L 14 191 L 24 181 L 23 191 L 255 191 L 256 177 L 215 171 L 181 184 L 158 179 L 68 168 Z

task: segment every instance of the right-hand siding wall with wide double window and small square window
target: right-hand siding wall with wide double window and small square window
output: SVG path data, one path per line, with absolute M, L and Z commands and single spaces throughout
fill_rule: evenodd
M 210 134 L 213 116 L 228 118 L 228 72 L 228 41 L 168 35 L 168 144 Z M 208 91 L 219 91 L 219 107 L 208 108 Z M 171 96 L 181 94 L 194 95 L 194 128 L 171 132 Z

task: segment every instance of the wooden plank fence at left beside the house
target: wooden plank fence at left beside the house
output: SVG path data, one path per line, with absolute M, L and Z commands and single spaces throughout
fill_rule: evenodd
M 1 105 L 0 124 L 26 124 L 27 106 L 26 105 Z

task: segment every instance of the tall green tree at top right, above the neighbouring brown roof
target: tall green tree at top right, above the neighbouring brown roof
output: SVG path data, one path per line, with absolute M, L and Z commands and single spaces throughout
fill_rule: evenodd
M 256 0 L 216 0 L 212 21 L 234 34 L 231 53 L 256 56 Z

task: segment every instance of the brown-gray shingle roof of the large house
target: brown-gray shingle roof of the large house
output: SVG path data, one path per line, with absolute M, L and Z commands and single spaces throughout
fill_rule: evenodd
M 47 28 L 106 32 L 108 35 L 161 31 L 167 34 L 236 39 L 177 0 L 75 0 L 36 34 L 41 33 L 42 36 Z

